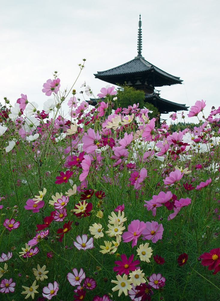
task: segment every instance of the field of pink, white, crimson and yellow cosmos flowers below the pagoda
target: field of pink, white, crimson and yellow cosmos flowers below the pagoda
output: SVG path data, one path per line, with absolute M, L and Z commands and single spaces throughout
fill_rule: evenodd
M 218 300 L 220 107 L 159 123 L 113 110 L 114 86 L 42 85 L 43 108 L 0 110 L 0 299 Z M 186 114 L 199 126 L 172 132 Z

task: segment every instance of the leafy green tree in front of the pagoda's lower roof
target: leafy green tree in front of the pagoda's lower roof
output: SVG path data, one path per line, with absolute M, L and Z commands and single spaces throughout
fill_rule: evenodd
M 142 90 L 136 90 L 134 87 L 130 87 L 127 85 L 123 85 L 121 88 L 119 88 L 117 93 L 117 103 L 115 102 L 115 105 L 113 107 L 114 110 L 116 110 L 117 106 L 126 108 L 128 106 L 133 106 L 133 104 L 139 103 L 139 108 L 143 109 L 143 107 L 146 107 L 150 111 L 153 111 L 153 113 L 149 113 L 148 116 L 150 119 L 153 117 L 157 117 L 159 114 L 158 110 L 154 105 L 145 102 L 144 98 L 144 91 Z

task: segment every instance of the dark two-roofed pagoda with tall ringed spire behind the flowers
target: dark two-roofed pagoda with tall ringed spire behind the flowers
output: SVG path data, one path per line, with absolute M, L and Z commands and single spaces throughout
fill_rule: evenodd
M 157 107 L 161 114 L 185 110 L 185 104 L 178 104 L 160 97 L 159 90 L 155 87 L 171 86 L 181 84 L 182 79 L 173 76 L 153 64 L 149 63 L 142 56 L 142 22 L 138 22 L 137 56 L 133 60 L 118 67 L 106 71 L 97 71 L 95 78 L 101 79 L 113 85 L 124 85 L 125 83 L 137 90 L 145 92 L 145 102 Z M 90 99 L 96 104 L 95 99 Z

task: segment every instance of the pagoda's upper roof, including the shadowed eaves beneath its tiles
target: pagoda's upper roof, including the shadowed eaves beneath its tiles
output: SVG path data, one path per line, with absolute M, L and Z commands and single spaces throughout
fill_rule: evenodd
M 95 78 L 114 85 L 117 83 L 124 85 L 129 78 L 137 78 L 138 76 L 146 81 L 149 80 L 154 87 L 181 84 L 183 81 L 179 77 L 173 76 L 149 63 L 141 55 L 118 67 L 97 71 L 97 74 L 94 75 Z

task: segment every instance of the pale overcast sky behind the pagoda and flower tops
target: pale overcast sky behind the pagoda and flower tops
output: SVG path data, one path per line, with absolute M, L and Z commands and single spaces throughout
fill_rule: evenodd
M 184 80 L 158 88 L 161 97 L 187 106 L 203 99 L 207 115 L 220 106 L 219 13 L 219 0 L 1 0 L 0 101 L 23 93 L 42 109 L 44 82 L 57 70 L 61 90 L 71 88 L 82 58 L 74 88 L 85 80 L 97 95 L 107 83 L 93 73 L 137 55 L 141 14 L 143 57 Z

